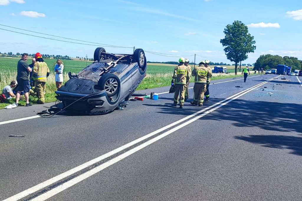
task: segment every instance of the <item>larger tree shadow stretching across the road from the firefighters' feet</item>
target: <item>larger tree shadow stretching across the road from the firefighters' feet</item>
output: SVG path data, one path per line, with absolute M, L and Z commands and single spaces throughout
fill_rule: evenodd
M 190 115 L 222 100 L 212 98 L 211 102 L 204 104 L 204 107 L 194 107 L 189 102 L 185 102 L 183 109 L 173 108 L 170 104 L 144 105 L 159 107 L 161 109 L 159 113 Z M 205 116 L 205 118 L 215 121 L 229 120 L 232 121 L 230 123 L 233 126 L 238 127 L 258 127 L 265 130 L 302 133 L 301 111 L 301 104 L 237 99 Z

